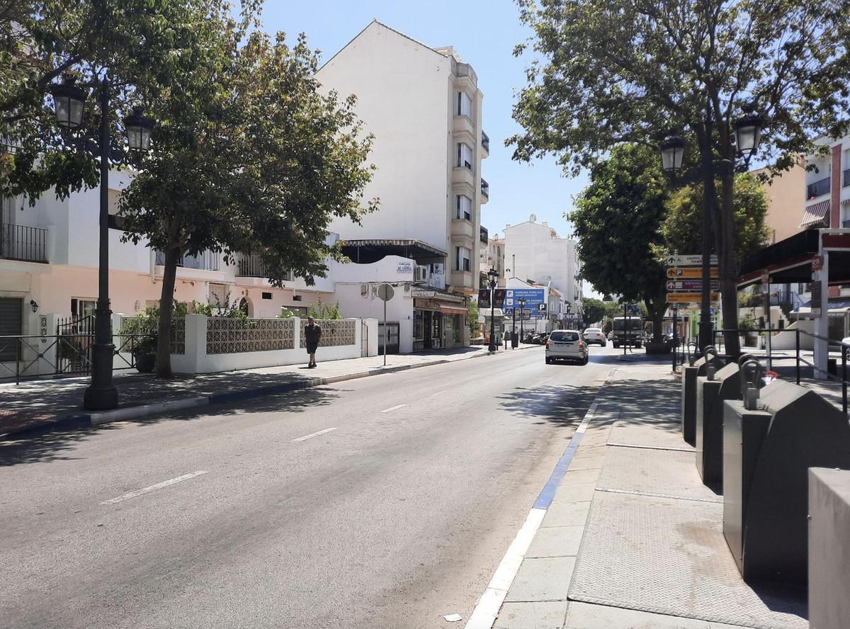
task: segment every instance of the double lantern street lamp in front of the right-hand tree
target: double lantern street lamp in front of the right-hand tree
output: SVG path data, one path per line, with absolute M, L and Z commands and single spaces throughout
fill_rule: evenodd
M 749 163 L 751 156 L 758 150 L 762 139 L 762 116 L 751 113 L 741 116 L 734 122 L 735 144 L 738 155 L 744 156 Z M 665 173 L 678 173 L 682 170 L 685 141 L 681 136 L 667 136 L 660 145 L 661 169 Z M 700 167 L 695 167 L 686 178 L 686 183 L 695 183 L 713 179 L 714 174 L 728 173 L 734 164 L 729 160 L 720 160 L 715 165 L 711 160 L 703 161 Z M 705 192 L 705 205 L 702 216 L 702 291 L 700 294 L 700 348 L 713 344 L 711 329 L 711 212 L 714 211 L 715 195 Z

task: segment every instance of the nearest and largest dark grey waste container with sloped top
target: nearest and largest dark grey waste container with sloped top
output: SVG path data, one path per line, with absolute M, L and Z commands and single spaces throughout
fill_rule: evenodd
M 850 424 L 813 390 L 775 380 L 760 409 L 723 404 L 723 536 L 745 581 L 808 577 L 808 468 L 850 468 Z

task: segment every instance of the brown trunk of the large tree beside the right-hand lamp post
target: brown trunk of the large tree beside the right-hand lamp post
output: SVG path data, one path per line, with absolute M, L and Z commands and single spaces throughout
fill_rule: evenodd
M 721 248 L 720 294 L 723 297 L 723 328 L 726 354 L 738 358 L 741 353 L 738 332 L 738 264 L 735 262 L 734 173 L 725 172 L 721 178 Z

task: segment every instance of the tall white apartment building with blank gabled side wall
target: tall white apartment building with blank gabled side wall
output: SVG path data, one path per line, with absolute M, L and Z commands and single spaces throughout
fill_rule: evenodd
M 480 207 L 489 195 L 475 71 L 453 48 L 431 48 L 372 21 L 316 77 L 327 90 L 355 94 L 356 114 L 374 135 L 369 160 L 377 171 L 365 198 L 377 197 L 380 208 L 362 224 L 337 219 L 331 230 L 355 263 L 413 259 L 428 297 L 414 304 L 412 347 L 431 348 L 438 338 L 454 346 L 456 334 L 445 328 L 468 331 L 456 297 L 465 304 L 478 290 Z

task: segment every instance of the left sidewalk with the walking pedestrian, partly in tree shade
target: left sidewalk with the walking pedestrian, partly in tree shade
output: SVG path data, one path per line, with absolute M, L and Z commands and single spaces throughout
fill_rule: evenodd
M 520 349 L 540 347 L 524 343 L 519 346 Z M 500 348 L 499 351 L 511 350 Z M 114 411 L 91 413 L 82 409 L 82 394 L 88 387 L 89 377 L 31 381 L 20 385 L 0 384 L 0 399 L 3 400 L 0 405 L 0 437 L 24 430 L 86 427 L 153 416 L 165 411 L 317 387 L 487 354 L 487 346 L 482 345 L 416 354 L 389 354 L 386 367 L 383 366 L 383 356 L 370 356 L 320 362 L 315 369 L 307 369 L 305 365 L 282 365 L 177 376 L 173 380 L 158 380 L 150 374 L 136 371 L 116 371 L 113 382 L 118 388 L 120 407 Z

